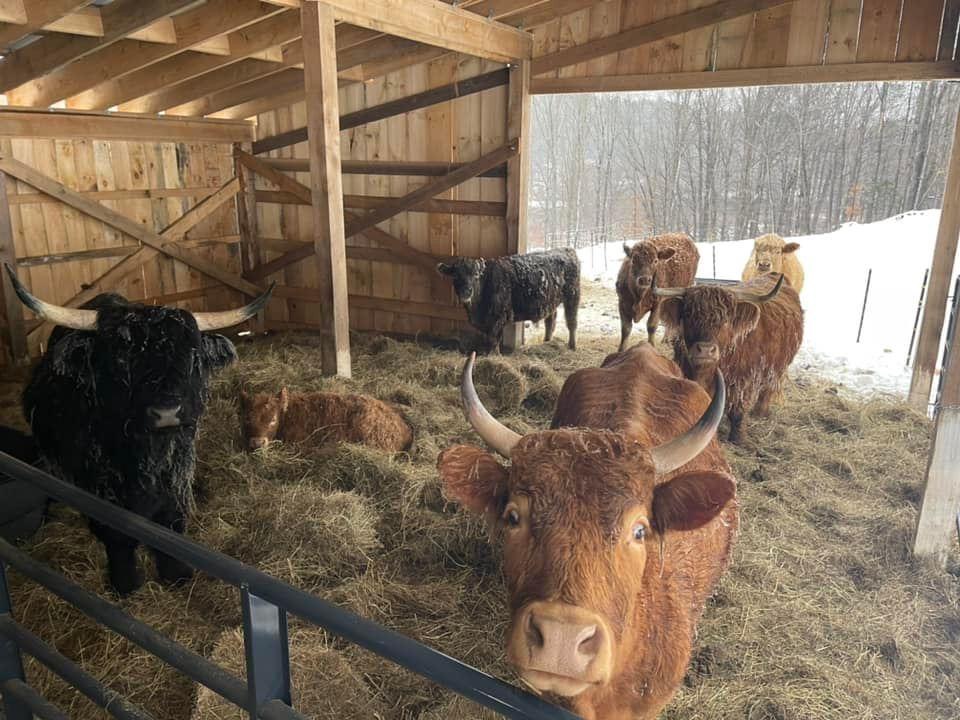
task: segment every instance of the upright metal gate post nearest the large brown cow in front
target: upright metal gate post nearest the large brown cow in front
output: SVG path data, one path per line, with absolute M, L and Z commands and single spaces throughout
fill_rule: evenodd
M 280 700 L 292 705 L 290 696 L 290 645 L 287 613 L 257 597 L 246 585 L 240 588 L 243 604 L 243 646 L 247 656 L 247 692 L 251 720 L 265 702 Z

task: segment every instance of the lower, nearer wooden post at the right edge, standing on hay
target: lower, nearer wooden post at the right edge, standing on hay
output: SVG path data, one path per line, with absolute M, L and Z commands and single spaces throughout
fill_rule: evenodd
M 920 506 L 913 551 L 943 565 L 957 543 L 957 513 L 960 512 L 960 328 L 950 340 L 947 366 L 933 444 L 927 465 L 927 486 Z

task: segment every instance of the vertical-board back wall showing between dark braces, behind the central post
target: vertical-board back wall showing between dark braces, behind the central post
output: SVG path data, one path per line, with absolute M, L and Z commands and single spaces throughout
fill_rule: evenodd
M 379 105 L 408 95 L 471 78 L 501 67 L 494 63 L 448 54 L 431 62 L 393 72 L 341 89 L 341 114 Z M 304 103 L 258 116 L 258 138 L 270 137 L 306 124 Z M 507 88 L 497 87 L 450 102 L 369 123 L 341 133 L 342 159 L 469 162 L 506 143 Z M 271 157 L 307 157 L 306 143 L 273 151 Z M 308 173 L 296 178 L 309 183 Z M 402 196 L 428 178 L 387 175 L 344 175 L 345 195 Z M 503 178 L 477 178 L 438 196 L 441 199 L 506 201 Z M 274 189 L 263 180 L 257 188 Z M 273 259 L 289 249 L 282 241 L 312 242 L 310 209 L 301 205 L 258 203 L 258 236 Z M 405 212 L 380 227 L 412 247 L 434 255 L 491 257 L 506 252 L 503 217 Z M 278 242 L 279 240 L 279 242 Z M 362 236 L 348 238 L 350 326 L 404 334 L 448 334 L 465 326 L 450 283 L 422 267 L 396 262 L 350 258 L 350 247 L 369 247 Z M 315 288 L 312 258 L 282 271 L 281 284 Z M 375 298 L 379 307 L 371 309 Z M 385 302 L 384 302 L 385 301 Z M 271 303 L 268 319 L 276 326 L 314 325 L 317 308 L 288 299 Z

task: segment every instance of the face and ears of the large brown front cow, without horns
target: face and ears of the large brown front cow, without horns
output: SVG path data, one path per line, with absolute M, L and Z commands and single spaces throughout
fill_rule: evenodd
M 447 497 L 502 538 L 507 656 L 539 691 L 602 690 L 648 651 L 661 540 L 713 519 L 733 480 L 695 472 L 657 484 L 650 451 L 607 431 L 527 435 L 511 461 L 470 446 L 439 460 Z

